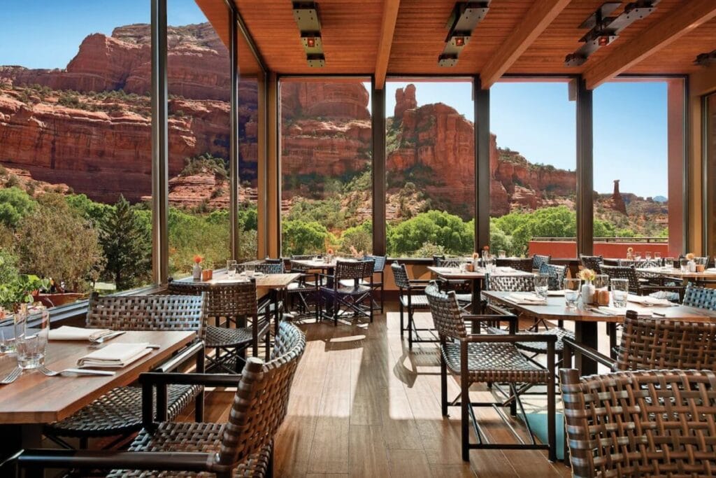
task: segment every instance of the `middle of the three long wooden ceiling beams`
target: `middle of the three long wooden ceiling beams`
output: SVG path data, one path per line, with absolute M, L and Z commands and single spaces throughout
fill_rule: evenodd
M 512 34 L 488 60 L 480 80 L 483 90 L 495 84 L 528 47 L 549 27 L 571 0 L 536 0 Z

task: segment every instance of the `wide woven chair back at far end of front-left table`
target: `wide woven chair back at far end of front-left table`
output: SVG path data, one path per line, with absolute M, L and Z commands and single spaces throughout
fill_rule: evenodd
M 203 294 L 102 297 L 92 292 L 84 323 L 93 329 L 198 331 L 205 306 Z

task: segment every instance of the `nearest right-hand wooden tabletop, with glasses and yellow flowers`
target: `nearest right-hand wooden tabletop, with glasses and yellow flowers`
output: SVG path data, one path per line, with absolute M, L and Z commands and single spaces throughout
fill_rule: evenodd
M 497 292 L 483 291 L 483 296 L 491 300 L 507 305 L 518 312 L 522 312 L 529 317 L 535 317 L 544 320 L 574 320 L 576 322 L 623 322 L 624 317 L 616 315 L 605 315 L 593 310 L 586 310 L 581 305 L 576 309 L 567 308 L 564 297 L 547 297 L 547 304 L 516 304 L 508 300 L 507 296 L 514 292 Z M 657 312 L 664 316 L 654 315 L 654 318 L 682 319 L 692 320 L 694 322 L 716 322 L 716 312 L 710 310 L 699 309 L 697 307 L 687 307 L 685 305 L 677 305 L 674 307 L 644 307 L 634 302 L 629 302 L 629 310 L 636 310 L 639 313 Z M 626 309 L 624 310 L 626 314 Z

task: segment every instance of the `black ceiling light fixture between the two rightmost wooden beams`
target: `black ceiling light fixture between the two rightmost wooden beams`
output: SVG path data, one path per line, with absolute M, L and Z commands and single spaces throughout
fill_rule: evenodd
M 624 7 L 619 16 L 609 16 L 621 6 L 621 1 L 607 1 L 596 9 L 586 20 L 579 25 L 580 29 L 589 28 L 589 32 L 579 39 L 584 44 L 576 52 L 568 54 L 564 64 L 568 67 L 578 67 L 584 64 L 589 55 L 601 47 L 614 42 L 622 30 L 629 27 L 634 21 L 641 20 L 652 14 L 661 0 L 636 0 Z

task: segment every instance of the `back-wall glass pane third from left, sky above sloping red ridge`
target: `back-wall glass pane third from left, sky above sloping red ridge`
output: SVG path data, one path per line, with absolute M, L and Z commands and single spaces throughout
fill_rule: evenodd
M 566 82 L 490 91 L 490 249 L 576 256 L 575 103 Z

